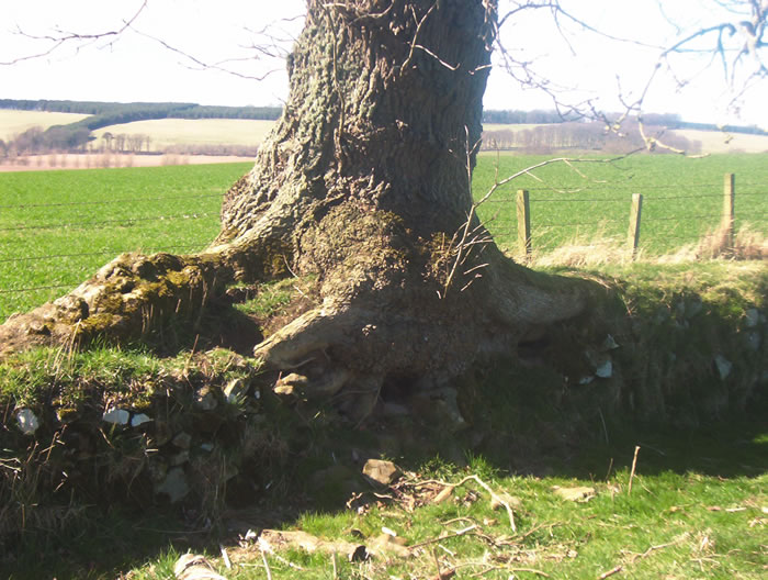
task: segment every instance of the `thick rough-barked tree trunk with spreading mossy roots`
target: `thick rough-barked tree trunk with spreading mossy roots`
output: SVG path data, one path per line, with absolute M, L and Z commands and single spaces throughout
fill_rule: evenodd
M 470 175 L 496 33 L 494 0 L 310 0 L 291 92 L 223 227 L 194 256 L 121 256 L 9 321 L 37 337 L 136 336 L 193 317 L 233 281 L 316 275 L 319 302 L 255 355 L 323 392 L 433 384 L 578 314 L 583 288 L 505 258 Z

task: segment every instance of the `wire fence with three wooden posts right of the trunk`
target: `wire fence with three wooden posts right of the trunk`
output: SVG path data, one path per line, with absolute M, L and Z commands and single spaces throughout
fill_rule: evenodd
M 725 236 L 733 242 L 744 226 L 764 237 L 768 232 L 768 185 L 739 182 L 736 197 L 732 174 L 721 183 L 685 188 L 679 183 L 530 187 L 484 205 L 478 213 L 499 245 L 529 257 L 562 246 L 609 243 L 625 245 L 632 255 L 639 249 L 659 255 L 708 238 Z

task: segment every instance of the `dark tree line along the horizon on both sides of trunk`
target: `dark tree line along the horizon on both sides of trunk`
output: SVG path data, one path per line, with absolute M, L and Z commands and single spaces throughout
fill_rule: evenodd
M 0 140 L 0 157 L 34 155 L 50 152 L 92 152 L 113 150 L 117 153 L 140 153 L 148 149 L 149 137 L 138 140 L 135 136 L 115 135 L 116 138 L 95 143 L 92 131 L 158 119 L 242 119 L 274 121 L 280 118 L 280 107 L 216 107 L 197 103 L 162 102 L 101 102 L 71 100 L 15 100 L 0 99 L 0 109 L 22 111 L 45 111 L 59 113 L 78 113 L 89 116 L 66 125 L 54 125 L 46 130 L 32 127 L 16 135 L 8 143 Z M 676 113 L 650 113 L 643 115 L 643 122 L 655 132 L 680 129 L 727 131 L 767 135 L 768 132 L 757 126 L 718 126 L 709 123 L 690 123 Z M 636 123 L 630 123 L 625 135 L 619 138 L 606 132 L 602 123 L 585 122 L 573 115 L 561 114 L 553 110 L 485 110 L 483 123 L 499 125 L 534 124 L 526 130 L 493 130 L 485 133 L 484 148 L 520 149 L 526 152 L 549 152 L 554 149 L 591 149 L 614 153 L 617 149 L 632 148 L 640 137 L 635 135 Z M 111 135 L 112 136 L 112 135 Z M 122 137 L 122 138 L 120 138 Z M 635 138 L 636 137 L 636 138 Z M 669 137 L 668 137 L 669 138 Z M 681 136 L 671 137 L 674 146 L 691 150 L 696 143 Z M 642 140 L 641 140 L 642 141 Z M 125 144 L 125 146 L 121 146 Z M 188 147 L 189 149 L 189 147 Z M 192 150 L 192 149 L 190 149 Z M 173 152 L 177 153 L 177 152 Z M 211 152 L 206 150 L 206 154 Z M 248 155 L 252 152 L 249 149 Z M 216 153 L 214 153 L 215 155 Z M 231 155 L 227 149 L 219 155 Z

